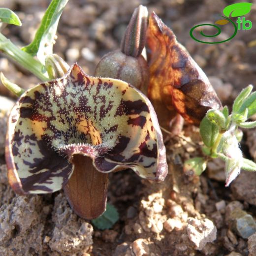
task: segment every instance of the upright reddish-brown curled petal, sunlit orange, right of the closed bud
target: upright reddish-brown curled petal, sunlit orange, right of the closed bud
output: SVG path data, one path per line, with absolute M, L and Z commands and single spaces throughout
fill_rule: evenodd
M 148 97 L 160 125 L 167 128 L 173 106 L 182 117 L 199 125 L 207 110 L 222 104 L 208 78 L 176 36 L 153 12 L 147 31 L 150 85 Z

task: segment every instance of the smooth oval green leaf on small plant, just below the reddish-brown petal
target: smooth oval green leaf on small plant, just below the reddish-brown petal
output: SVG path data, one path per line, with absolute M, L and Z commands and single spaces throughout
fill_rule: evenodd
M 218 126 L 204 117 L 199 128 L 203 143 L 209 148 L 212 147 L 219 134 Z

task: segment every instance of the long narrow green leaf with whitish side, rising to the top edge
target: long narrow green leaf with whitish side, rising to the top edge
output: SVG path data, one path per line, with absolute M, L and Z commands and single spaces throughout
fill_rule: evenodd
M 38 60 L 44 64 L 45 57 L 53 53 L 53 44 L 59 19 L 68 0 L 52 0 L 47 8 L 40 27 L 31 44 L 22 48 L 23 51 L 37 55 Z

